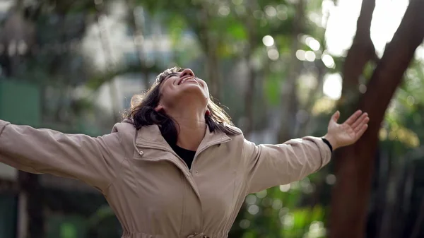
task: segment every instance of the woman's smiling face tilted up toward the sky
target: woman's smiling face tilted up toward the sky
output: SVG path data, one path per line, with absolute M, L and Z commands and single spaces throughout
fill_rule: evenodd
M 208 100 L 208 85 L 200 78 L 196 78 L 191 69 L 170 73 L 160 85 L 160 104 L 165 108 L 199 102 L 206 109 Z

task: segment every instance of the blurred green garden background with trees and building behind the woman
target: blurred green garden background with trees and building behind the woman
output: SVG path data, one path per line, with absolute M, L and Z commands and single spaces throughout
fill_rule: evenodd
M 370 127 L 300 182 L 250 194 L 229 237 L 424 237 L 423 0 L 0 0 L 0 118 L 99 136 L 170 66 L 255 143 Z M 142 201 L 141 201 L 142 202 Z M 102 195 L 0 164 L 0 238 L 116 238 Z

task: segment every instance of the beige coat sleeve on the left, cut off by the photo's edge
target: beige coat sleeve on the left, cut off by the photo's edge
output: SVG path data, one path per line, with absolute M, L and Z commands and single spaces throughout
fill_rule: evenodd
M 124 160 L 118 133 L 93 138 L 0 120 L 0 162 L 33 174 L 78 179 L 105 194 Z

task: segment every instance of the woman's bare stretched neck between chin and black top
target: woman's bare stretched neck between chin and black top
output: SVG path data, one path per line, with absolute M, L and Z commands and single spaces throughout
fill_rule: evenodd
M 186 150 L 196 151 L 206 132 L 204 110 L 184 107 L 167 114 L 177 123 L 177 145 Z

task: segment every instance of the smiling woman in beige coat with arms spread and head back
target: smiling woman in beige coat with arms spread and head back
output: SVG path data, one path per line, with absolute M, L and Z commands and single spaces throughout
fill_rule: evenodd
M 316 172 L 331 151 L 367 129 L 358 111 L 331 118 L 323 138 L 255 145 L 230 126 L 190 69 L 167 69 L 133 101 L 127 119 L 98 138 L 0 121 L 0 162 L 97 188 L 125 238 L 228 237 L 247 194 Z

